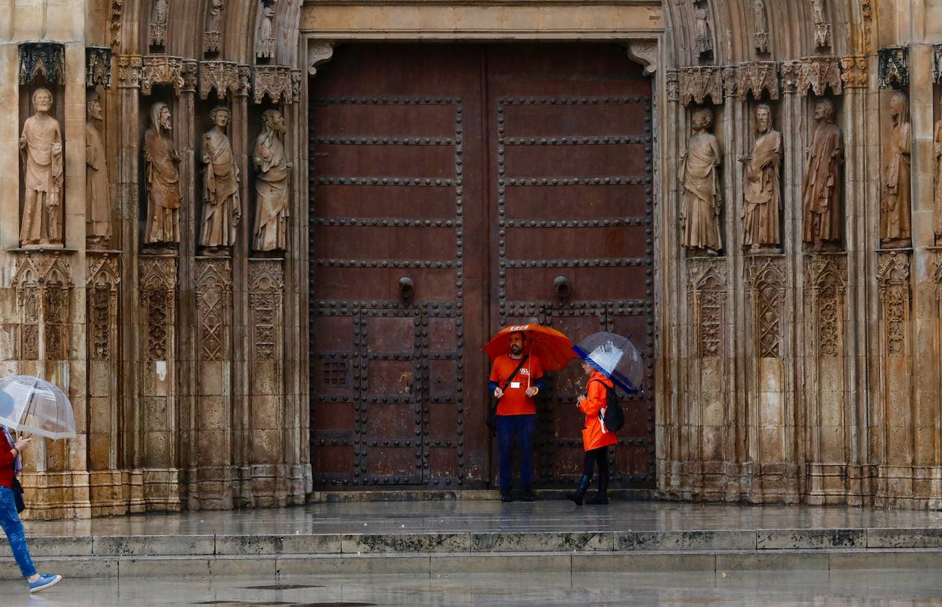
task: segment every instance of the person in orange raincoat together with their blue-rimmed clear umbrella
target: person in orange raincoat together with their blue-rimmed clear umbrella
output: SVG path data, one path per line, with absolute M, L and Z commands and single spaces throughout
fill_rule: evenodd
M 594 465 L 598 464 L 598 493 L 586 500 L 590 504 L 609 503 L 609 445 L 618 444 L 617 428 L 606 427 L 606 409 L 609 391 L 619 386 L 625 392 L 637 393 L 642 385 L 643 362 L 641 353 L 627 337 L 600 332 L 580 341 L 573 350 L 582 358 L 582 370 L 589 377 L 586 394 L 580 396 L 576 406 L 585 417 L 582 445 L 585 449 L 582 479 L 574 493 L 566 497 L 582 505 Z M 614 405 L 611 405 L 614 406 Z

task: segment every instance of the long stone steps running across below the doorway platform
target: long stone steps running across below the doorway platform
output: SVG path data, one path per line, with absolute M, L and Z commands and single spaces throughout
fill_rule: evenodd
M 386 526 L 388 527 L 388 525 Z M 70 577 L 942 568 L 942 529 L 38 535 Z M 0 576 L 15 579 L 12 559 Z

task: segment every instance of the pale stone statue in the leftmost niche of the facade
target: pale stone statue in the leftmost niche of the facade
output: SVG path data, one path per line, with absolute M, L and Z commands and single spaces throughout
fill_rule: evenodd
M 23 124 L 20 156 L 23 158 L 25 201 L 20 242 L 27 246 L 62 246 L 62 132 L 49 115 L 53 93 L 33 93 L 36 110 Z

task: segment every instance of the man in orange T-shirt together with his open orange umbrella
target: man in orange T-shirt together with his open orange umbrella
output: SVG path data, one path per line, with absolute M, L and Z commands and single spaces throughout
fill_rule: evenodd
M 559 370 L 575 358 L 572 342 L 559 331 L 536 323 L 500 331 L 484 352 L 494 361 L 488 392 L 497 399 L 495 430 L 499 459 L 500 500 L 513 501 L 512 453 L 520 451 L 521 499 L 533 501 L 533 435 L 536 401 L 546 370 Z

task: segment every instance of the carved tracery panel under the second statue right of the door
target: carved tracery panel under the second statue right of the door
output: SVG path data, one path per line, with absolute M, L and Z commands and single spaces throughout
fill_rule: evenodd
M 749 297 L 759 358 L 782 355 L 782 313 L 785 303 L 785 259 L 753 255 L 746 264 Z

